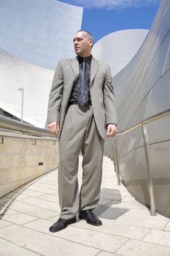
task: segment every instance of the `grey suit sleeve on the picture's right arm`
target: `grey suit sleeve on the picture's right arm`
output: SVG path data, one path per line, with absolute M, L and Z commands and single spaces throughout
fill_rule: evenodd
M 106 126 L 107 124 L 117 124 L 115 94 L 109 67 L 107 67 L 106 78 L 104 81 L 104 107 L 106 113 Z

